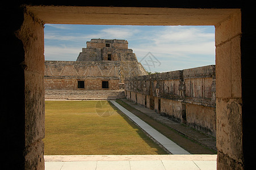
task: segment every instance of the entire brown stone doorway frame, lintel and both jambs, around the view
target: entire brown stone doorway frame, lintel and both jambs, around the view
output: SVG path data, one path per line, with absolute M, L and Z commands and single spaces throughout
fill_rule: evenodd
M 16 36 L 24 46 L 25 167 L 44 168 L 44 24 L 215 25 L 217 168 L 244 166 L 241 10 L 24 6 Z

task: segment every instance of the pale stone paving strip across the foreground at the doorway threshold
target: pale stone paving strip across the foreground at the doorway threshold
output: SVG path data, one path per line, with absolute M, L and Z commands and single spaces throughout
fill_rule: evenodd
M 53 155 L 44 156 L 47 170 L 79 169 L 216 169 L 216 155 Z

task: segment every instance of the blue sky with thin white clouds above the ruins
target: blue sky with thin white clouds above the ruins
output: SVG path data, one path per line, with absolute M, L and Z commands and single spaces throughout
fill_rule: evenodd
M 44 36 L 45 60 L 75 61 L 86 41 L 121 39 L 152 73 L 215 64 L 214 26 L 45 24 Z M 158 63 L 147 66 L 147 54 Z

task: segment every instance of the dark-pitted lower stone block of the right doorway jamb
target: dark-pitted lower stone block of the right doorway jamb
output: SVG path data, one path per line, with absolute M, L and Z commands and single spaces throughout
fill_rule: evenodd
M 242 163 L 242 101 L 216 100 L 217 149 Z

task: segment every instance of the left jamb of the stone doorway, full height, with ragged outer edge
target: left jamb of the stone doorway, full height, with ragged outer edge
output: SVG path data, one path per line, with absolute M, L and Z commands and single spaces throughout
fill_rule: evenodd
M 16 36 L 24 46 L 24 169 L 44 169 L 44 25 L 25 10 Z

